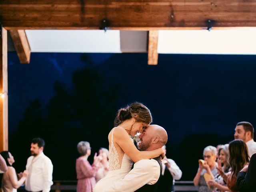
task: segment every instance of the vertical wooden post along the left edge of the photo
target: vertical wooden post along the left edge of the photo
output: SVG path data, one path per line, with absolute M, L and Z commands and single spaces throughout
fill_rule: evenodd
M 0 151 L 8 150 L 7 31 L 0 25 Z

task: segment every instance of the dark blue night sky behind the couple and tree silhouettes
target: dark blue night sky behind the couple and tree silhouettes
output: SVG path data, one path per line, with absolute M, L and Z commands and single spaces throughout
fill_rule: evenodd
M 237 122 L 256 124 L 256 56 L 159 54 L 158 65 L 148 66 L 147 54 L 32 53 L 30 64 L 20 64 L 17 54 L 8 52 L 9 135 L 31 100 L 38 98 L 44 107 L 54 96 L 54 82 L 71 86 L 73 72 L 86 65 L 84 56 L 107 86 L 120 86 L 114 100 L 118 108 L 137 101 L 150 109 L 153 123 L 168 132 L 167 156 L 183 172 L 185 140 L 197 151 L 190 156 L 198 159 L 206 146 L 201 138 L 211 138 L 207 145 L 225 144 Z M 193 166 L 194 173 L 182 180 L 193 179 L 197 163 Z

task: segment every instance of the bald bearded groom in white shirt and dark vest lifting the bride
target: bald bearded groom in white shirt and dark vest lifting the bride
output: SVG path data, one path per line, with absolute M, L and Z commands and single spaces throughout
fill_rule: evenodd
M 158 125 L 148 126 L 139 136 L 138 149 L 152 151 L 164 146 L 167 133 Z M 158 187 L 158 179 L 162 172 L 160 157 L 142 159 L 134 164 L 134 168 L 121 180 L 104 190 L 104 192 L 154 192 Z

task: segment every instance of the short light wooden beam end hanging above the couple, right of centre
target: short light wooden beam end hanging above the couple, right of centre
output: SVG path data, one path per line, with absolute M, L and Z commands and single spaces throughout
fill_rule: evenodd
M 158 64 L 158 31 L 149 31 L 148 33 L 148 65 Z

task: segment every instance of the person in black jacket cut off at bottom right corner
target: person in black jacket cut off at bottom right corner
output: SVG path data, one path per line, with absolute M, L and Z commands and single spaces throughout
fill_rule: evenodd
M 240 192 L 256 190 L 256 154 L 253 154 L 249 166 L 244 167 L 237 176 L 236 186 Z

